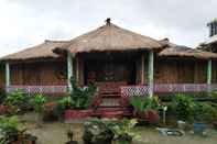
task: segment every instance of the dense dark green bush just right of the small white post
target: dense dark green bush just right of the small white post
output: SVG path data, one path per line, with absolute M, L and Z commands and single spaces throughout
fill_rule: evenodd
M 172 102 L 172 108 L 178 120 L 192 121 L 195 102 L 193 98 L 184 93 L 177 93 Z

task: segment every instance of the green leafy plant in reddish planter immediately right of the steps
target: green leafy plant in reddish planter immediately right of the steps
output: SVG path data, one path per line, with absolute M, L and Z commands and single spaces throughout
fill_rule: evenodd
M 149 123 L 155 124 L 159 122 L 159 111 L 160 101 L 158 97 L 145 98 L 145 97 L 133 97 L 130 100 L 133 107 L 133 115 L 140 120 L 147 120 Z

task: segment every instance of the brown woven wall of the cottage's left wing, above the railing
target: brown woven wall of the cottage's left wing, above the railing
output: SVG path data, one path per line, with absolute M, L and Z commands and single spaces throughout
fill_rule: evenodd
M 11 85 L 65 85 L 65 62 L 39 62 L 13 64 L 11 68 Z

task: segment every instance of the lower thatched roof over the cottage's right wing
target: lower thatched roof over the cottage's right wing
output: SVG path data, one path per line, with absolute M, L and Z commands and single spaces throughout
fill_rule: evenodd
M 167 43 L 167 47 L 159 53 L 159 56 L 166 57 L 192 57 L 198 59 L 210 59 L 217 58 L 217 54 L 211 52 L 204 52 L 200 49 L 194 49 L 183 45 L 176 45 L 170 43 L 169 40 L 161 41 L 162 43 Z

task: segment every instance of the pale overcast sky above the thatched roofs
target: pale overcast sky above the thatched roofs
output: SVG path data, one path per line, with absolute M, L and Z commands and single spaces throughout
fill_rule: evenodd
M 208 36 L 217 0 L 0 0 L 0 56 L 42 43 L 70 40 L 104 24 L 196 46 Z

